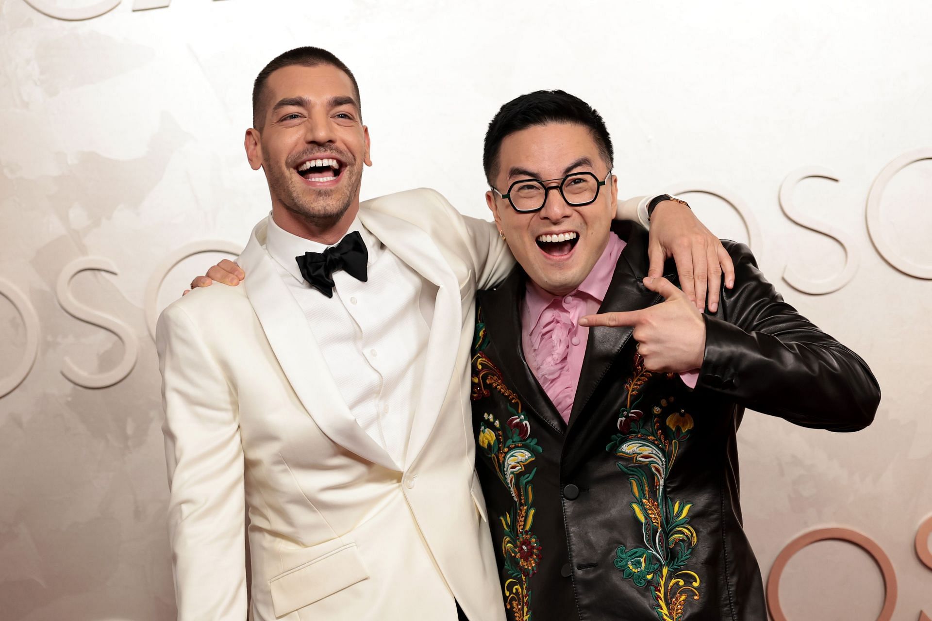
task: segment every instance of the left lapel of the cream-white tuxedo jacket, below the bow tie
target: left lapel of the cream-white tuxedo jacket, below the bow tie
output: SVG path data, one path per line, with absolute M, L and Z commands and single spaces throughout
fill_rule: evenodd
M 239 262 L 249 275 L 243 281 L 246 295 L 281 370 L 328 438 L 364 459 L 397 470 L 389 453 L 365 433 L 340 396 L 307 318 L 265 249 L 266 230 L 267 221 L 255 227 Z

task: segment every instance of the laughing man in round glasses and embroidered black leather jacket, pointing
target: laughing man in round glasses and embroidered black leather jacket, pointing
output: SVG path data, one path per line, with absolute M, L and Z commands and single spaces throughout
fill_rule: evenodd
M 765 621 L 735 431 L 745 408 L 870 425 L 867 364 L 785 303 L 742 244 L 724 242 L 735 279 L 716 312 L 689 302 L 672 267 L 646 277 L 646 232 L 611 223 L 611 142 L 583 101 L 506 103 L 485 165 L 520 263 L 479 293 L 472 378 L 509 617 Z

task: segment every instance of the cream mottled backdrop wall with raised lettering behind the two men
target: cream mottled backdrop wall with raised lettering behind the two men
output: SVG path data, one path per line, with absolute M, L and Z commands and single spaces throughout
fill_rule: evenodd
M 932 513 L 932 5 L 169 4 L 0 0 L 0 618 L 173 617 L 149 326 L 224 256 L 186 255 L 236 251 L 267 213 L 241 146 L 251 82 L 298 45 L 356 72 L 364 197 L 428 185 L 484 216 L 488 120 L 564 88 L 605 115 L 623 194 L 693 191 L 720 236 L 749 240 L 884 391 L 853 435 L 748 412 L 761 569 L 800 533 L 852 528 L 892 561 L 893 618 L 932 614 L 915 551 Z M 780 587 L 794 621 L 884 601 L 841 542 L 804 548 Z

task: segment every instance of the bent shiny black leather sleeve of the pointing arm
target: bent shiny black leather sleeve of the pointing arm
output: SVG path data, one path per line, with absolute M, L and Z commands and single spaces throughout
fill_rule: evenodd
M 734 288 L 705 315 L 706 355 L 697 388 L 757 412 L 831 431 L 873 421 L 880 386 L 863 359 L 783 301 L 744 244 L 722 242 Z

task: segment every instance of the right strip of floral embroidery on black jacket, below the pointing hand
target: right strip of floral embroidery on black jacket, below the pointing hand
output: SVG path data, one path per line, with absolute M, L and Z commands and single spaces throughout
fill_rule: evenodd
M 628 476 L 635 498 L 631 509 L 644 542 L 644 547 L 618 547 L 615 567 L 635 586 L 650 589 L 659 621 L 680 621 L 687 600 L 700 598 L 699 576 L 685 569 L 697 537 L 689 524 L 692 503 L 667 497 L 665 482 L 679 445 L 690 437 L 693 421 L 689 413 L 676 410 L 673 397 L 661 398 L 649 415 L 637 409 L 653 375 L 635 354 L 634 375 L 624 385 L 627 401 L 618 417 L 620 433 L 606 447 L 625 459 L 617 465 Z

